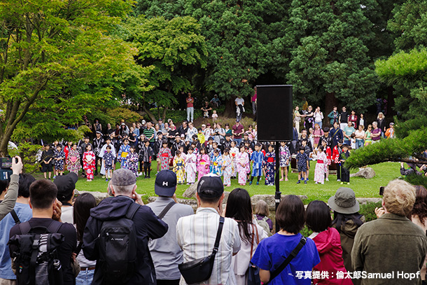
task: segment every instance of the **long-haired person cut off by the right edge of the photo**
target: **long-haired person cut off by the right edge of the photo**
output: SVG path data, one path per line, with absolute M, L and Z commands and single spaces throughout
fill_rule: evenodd
M 415 203 L 411 211 L 412 223 L 419 225 L 424 232 L 427 232 L 427 190 L 424 186 L 415 185 Z M 426 260 L 421 267 L 421 281 L 426 285 Z

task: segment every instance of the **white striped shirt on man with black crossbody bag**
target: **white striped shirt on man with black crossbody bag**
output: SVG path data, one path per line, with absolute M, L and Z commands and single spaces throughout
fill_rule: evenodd
M 185 216 L 178 220 L 176 239 L 183 249 L 185 263 L 212 253 L 219 218 L 216 209 L 200 207 L 195 215 Z M 239 250 L 240 235 L 237 222 L 231 218 L 225 218 L 211 278 L 200 284 L 236 284 L 232 267 L 232 253 L 237 253 Z

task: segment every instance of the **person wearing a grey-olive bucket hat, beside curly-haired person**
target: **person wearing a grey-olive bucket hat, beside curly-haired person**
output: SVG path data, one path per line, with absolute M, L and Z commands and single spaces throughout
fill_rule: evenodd
M 353 249 L 354 236 L 360 225 L 365 223 L 365 216 L 358 213 L 360 205 L 351 188 L 339 187 L 337 193 L 329 198 L 328 205 L 334 211 L 332 228 L 338 230 L 341 238 L 344 266 L 347 272 L 352 272 L 351 249 Z M 360 284 L 360 279 L 353 279 L 353 284 Z

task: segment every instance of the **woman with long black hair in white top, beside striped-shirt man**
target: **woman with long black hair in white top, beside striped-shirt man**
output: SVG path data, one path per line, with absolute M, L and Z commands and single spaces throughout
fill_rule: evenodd
M 243 188 L 235 188 L 231 191 L 225 208 L 225 217 L 233 218 L 239 225 L 241 248 L 239 253 L 232 257 L 232 266 L 236 284 L 246 285 L 248 284 L 246 271 L 249 261 L 251 261 L 260 240 L 267 237 L 267 232 L 253 221 L 251 196 Z

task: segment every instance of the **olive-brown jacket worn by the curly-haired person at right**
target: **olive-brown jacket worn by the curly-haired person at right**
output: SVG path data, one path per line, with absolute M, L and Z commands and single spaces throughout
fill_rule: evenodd
M 358 229 L 351 261 L 356 272 L 365 272 L 363 285 L 414 285 L 421 284 L 416 273 L 421 270 L 426 252 L 426 233 L 405 216 L 388 213 Z M 414 274 L 415 279 L 405 278 L 400 275 L 402 272 Z M 390 275 L 386 276 L 387 273 Z

